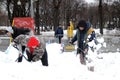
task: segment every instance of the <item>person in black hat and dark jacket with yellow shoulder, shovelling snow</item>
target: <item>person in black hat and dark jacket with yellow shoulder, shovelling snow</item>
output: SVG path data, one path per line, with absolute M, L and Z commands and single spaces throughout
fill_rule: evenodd
M 90 35 L 90 37 L 88 37 Z M 72 38 L 70 43 L 77 41 L 78 50 L 77 53 L 80 54 L 81 64 L 86 64 L 85 55 L 88 52 L 88 42 L 95 38 L 95 32 L 92 27 L 87 26 L 86 21 L 81 20 L 77 25 L 77 31 L 75 36 Z

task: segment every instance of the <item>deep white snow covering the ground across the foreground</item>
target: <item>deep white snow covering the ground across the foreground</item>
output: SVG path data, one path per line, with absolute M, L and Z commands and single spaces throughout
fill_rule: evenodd
M 103 43 L 103 39 L 100 39 Z M 105 45 L 105 44 L 104 44 Z M 101 45 L 98 45 L 99 49 Z M 18 51 L 13 47 L 0 51 L 0 80 L 119 80 L 120 53 L 94 54 L 94 72 L 81 65 L 76 52 L 61 52 L 61 45 L 46 45 L 49 66 L 41 62 L 15 62 Z

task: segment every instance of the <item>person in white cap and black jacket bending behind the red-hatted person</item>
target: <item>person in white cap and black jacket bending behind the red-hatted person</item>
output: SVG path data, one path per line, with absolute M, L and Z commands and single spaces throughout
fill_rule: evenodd
M 28 28 L 17 28 L 17 27 L 7 27 L 6 28 L 6 33 L 9 37 L 12 37 L 14 40 L 17 36 L 21 34 L 29 34 L 31 32 L 30 29 Z M 22 53 L 25 51 L 25 46 L 22 46 Z M 20 55 L 18 58 L 18 62 L 22 62 L 22 56 Z

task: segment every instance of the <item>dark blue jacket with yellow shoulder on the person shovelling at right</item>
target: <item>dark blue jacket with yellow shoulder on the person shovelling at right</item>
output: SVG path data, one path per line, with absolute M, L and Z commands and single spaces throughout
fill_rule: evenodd
M 88 39 L 88 35 L 91 35 L 91 37 Z M 72 38 L 71 42 L 74 43 L 77 41 L 78 48 L 81 48 L 84 50 L 88 47 L 87 42 L 92 41 L 95 37 L 95 32 L 92 27 L 85 26 L 84 30 L 77 29 L 75 36 Z

